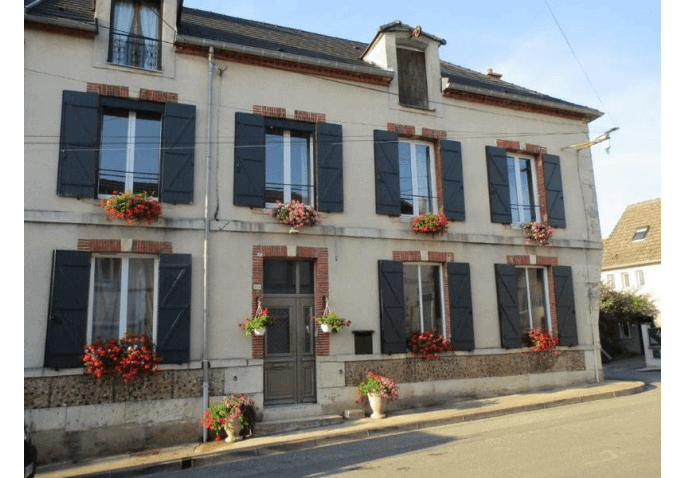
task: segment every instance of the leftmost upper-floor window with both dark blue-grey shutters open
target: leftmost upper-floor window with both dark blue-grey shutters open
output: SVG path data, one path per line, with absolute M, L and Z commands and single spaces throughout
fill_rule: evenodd
M 57 194 L 193 201 L 195 106 L 64 91 Z

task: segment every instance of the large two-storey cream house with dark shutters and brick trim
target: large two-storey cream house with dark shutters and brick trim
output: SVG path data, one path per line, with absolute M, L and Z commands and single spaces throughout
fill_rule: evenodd
M 180 0 L 25 6 L 24 417 L 44 462 L 197 440 L 229 393 L 263 423 L 340 415 L 368 370 L 399 383 L 391 411 L 602 380 L 592 158 L 568 147 L 602 113 L 442 61 L 430 25 L 360 43 Z M 123 190 L 159 221 L 105 217 Z M 292 200 L 321 223 L 276 223 Z M 447 233 L 413 232 L 440 212 Z M 327 304 L 352 325 L 324 333 Z M 279 320 L 245 337 L 258 308 Z M 161 373 L 85 374 L 83 347 L 126 331 Z M 424 331 L 454 351 L 411 357 Z

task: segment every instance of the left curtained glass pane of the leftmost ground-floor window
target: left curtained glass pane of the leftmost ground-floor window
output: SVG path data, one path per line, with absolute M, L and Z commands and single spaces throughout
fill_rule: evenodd
M 119 338 L 121 259 L 95 259 L 93 287 L 93 332 L 91 341 Z

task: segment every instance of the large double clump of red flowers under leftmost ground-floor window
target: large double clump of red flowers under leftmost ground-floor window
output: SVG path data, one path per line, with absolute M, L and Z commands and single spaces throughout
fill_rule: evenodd
M 149 337 L 128 332 L 119 340 L 98 339 L 84 347 L 83 352 L 81 361 L 87 374 L 95 378 L 118 375 L 125 383 L 158 373 L 157 365 L 162 361 Z

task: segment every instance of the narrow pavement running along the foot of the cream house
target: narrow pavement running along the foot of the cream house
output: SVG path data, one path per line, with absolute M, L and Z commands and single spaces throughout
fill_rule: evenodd
M 79 463 L 43 465 L 38 467 L 36 477 L 133 477 L 146 473 L 173 472 L 303 448 L 378 438 L 451 423 L 611 399 L 646 391 L 651 388 L 651 382 L 660 382 L 659 369 L 647 368 L 645 360 L 641 357 L 613 361 L 604 364 L 603 369 L 606 381 L 598 384 L 462 400 L 441 407 L 393 412 L 380 420 L 368 417 L 345 420 L 339 425 L 255 437 L 234 443 L 189 443 Z M 259 427 L 259 422 L 256 427 Z

